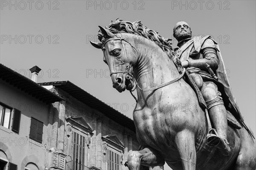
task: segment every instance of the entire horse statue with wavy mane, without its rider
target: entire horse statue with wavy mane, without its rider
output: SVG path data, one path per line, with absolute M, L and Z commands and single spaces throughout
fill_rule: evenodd
M 255 139 L 243 124 L 240 130 L 228 125 L 229 156 L 206 144 L 210 122 L 183 79 L 170 39 L 140 21 L 117 19 L 99 27 L 101 43 L 91 44 L 102 49 L 113 87 L 119 92 L 138 88 L 133 118 L 141 150 L 128 153 L 129 170 L 165 162 L 173 170 L 256 169 Z

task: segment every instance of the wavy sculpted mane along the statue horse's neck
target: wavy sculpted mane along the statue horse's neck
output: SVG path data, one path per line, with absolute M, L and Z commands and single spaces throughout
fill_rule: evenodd
M 148 40 L 153 41 L 161 49 L 163 49 L 164 52 L 166 52 L 170 59 L 172 59 L 178 71 L 180 73 L 182 72 L 181 62 L 171 46 L 172 43 L 170 41 L 172 39 L 164 38 L 161 35 L 158 35 L 158 32 L 143 26 L 141 21 L 137 20 L 132 23 L 130 21 L 123 21 L 122 19 L 117 18 L 115 22 L 111 21 L 109 26 L 106 26 L 105 29 L 108 29 L 113 34 L 126 32 L 134 35 L 140 35 L 147 38 Z M 105 40 L 104 34 L 101 32 L 101 30 L 98 32 L 98 38 L 102 43 Z

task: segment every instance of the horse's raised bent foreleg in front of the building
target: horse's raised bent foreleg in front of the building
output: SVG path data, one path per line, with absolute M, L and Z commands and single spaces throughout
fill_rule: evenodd
M 130 151 L 128 153 L 129 170 L 140 170 L 140 164 L 147 167 L 163 166 L 164 158 L 152 148 L 145 147 L 140 151 Z

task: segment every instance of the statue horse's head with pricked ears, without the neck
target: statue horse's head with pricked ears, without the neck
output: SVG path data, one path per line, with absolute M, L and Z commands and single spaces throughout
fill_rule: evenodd
M 134 81 L 131 79 L 133 65 L 138 58 L 137 50 L 129 42 L 128 34 L 117 33 L 113 34 L 108 29 L 99 26 L 103 34 L 102 43 L 90 43 L 102 49 L 104 58 L 103 61 L 108 65 L 110 70 L 113 88 L 119 92 L 131 90 L 134 87 Z

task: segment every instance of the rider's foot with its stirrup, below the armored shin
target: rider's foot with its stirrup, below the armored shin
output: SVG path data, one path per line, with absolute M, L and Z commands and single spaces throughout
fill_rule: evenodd
M 224 156 L 229 156 L 230 147 L 228 146 L 229 143 L 227 142 L 227 139 L 218 137 L 218 133 L 215 129 L 209 130 L 206 142 L 210 146 L 217 147 Z

